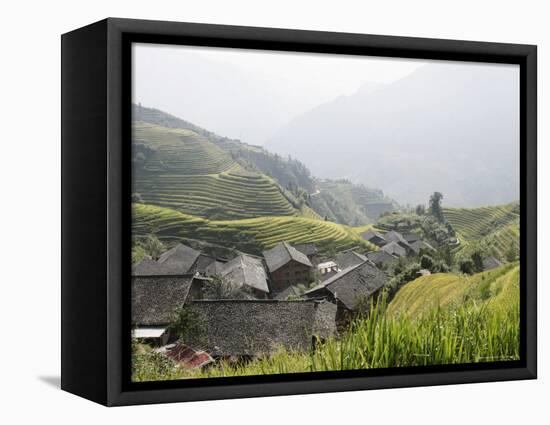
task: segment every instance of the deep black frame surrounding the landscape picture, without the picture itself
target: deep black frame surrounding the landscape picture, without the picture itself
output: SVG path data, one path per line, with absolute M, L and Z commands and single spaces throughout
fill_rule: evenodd
M 113 406 L 536 378 L 536 46 L 118 18 L 61 41 L 62 389 Z M 130 382 L 132 42 L 518 64 L 521 359 Z

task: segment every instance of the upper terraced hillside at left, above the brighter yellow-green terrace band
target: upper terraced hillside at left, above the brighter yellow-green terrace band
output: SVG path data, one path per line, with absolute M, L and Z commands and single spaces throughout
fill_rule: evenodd
M 244 170 L 193 131 L 144 123 L 133 129 L 135 146 L 149 149 L 134 168 L 132 191 L 144 203 L 216 219 L 298 213 L 272 179 Z

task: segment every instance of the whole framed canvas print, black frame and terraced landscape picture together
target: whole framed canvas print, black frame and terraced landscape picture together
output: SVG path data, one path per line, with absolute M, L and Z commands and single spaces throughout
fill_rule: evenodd
M 62 37 L 62 388 L 536 377 L 536 47 L 107 19 Z

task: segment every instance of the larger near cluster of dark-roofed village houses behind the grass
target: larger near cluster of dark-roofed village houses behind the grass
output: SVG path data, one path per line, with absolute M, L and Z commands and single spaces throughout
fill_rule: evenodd
M 214 280 L 245 296 L 213 298 L 207 288 Z M 379 293 L 387 280 L 354 251 L 321 262 L 315 245 L 281 242 L 261 257 L 219 259 L 178 244 L 133 267 L 133 337 L 188 366 L 269 355 L 280 347 L 307 350 L 335 335 L 359 301 Z M 170 323 L 184 305 L 200 318 L 200 332 L 185 346 L 169 344 L 176 339 Z

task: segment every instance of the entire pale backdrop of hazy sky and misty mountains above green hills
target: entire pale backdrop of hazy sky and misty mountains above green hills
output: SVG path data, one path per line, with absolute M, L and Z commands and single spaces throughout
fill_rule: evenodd
M 133 59 L 135 103 L 292 155 L 318 177 L 411 204 L 434 190 L 448 205 L 518 197 L 516 65 L 151 44 Z

